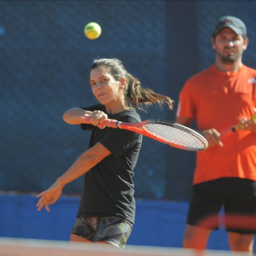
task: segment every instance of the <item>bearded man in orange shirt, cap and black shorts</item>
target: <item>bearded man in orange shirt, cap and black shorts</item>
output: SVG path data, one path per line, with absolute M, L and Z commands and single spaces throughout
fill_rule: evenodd
M 247 46 L 244 23 L 221 17 L 212 35 L 215 63 L 188 79 L 180 92 L 176 123 L 190 126 L 196 119 L 209 144 L 197 153 L 184 248 L 205 248 L 211 229 L 200 227 L 200 221 L 217 215 L 222 206 L 225 214 L 250 214 L 256 222 L 256 124 L 250 120 L 256 107 L 256 70 L 242 64 Z M 239 122 L 244 130 L 220 136 Z M 252 228 L 227 227 L 232 251 L 252 252 L 256 226 Z

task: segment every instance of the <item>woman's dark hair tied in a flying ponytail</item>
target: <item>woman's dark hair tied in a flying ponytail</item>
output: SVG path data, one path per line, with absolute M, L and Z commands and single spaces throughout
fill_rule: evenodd
M 156 103 L 160 107 L 165 103 L 168 108 L 173 108 L 173 100 L 168 96 L 164 96 L 154 92 L 152 89 L 142 88 L 140 81 L 126 71 L 123 63 L 118 59 L 96 59 L 93 60 L 91 70 L 97 67 L 103 67 L 114 77 L 116 81 L 121 77 L 126 79 L 125 98 L 127 103 L 135 108 L 141 108 L 141 105 L 146 107 Z

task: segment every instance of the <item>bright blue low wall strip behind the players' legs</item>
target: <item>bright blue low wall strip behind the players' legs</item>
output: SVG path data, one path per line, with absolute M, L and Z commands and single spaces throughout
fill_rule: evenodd
M 79 197 L 62 196 L 51 211 L 36 211 L 34 195 L 0 196 L 0 236 L 69 240 Z M 136 223 L 128 244 L 182 247 L 188 202 L 136 200 Z M 228 250 L 223 229 L 213 231 L 209 249 Z

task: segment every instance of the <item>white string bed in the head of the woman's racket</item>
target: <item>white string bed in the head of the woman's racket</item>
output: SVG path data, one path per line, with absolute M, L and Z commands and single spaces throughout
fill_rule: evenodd
M 152 136 L 167 144 L 194 150 L 203 150 L 205 148 L 205 142 L 198 135 L 193 134 L 191 130 L 185 130 L 173 125 L 154 123 L 145 124 L 144 129 Z

